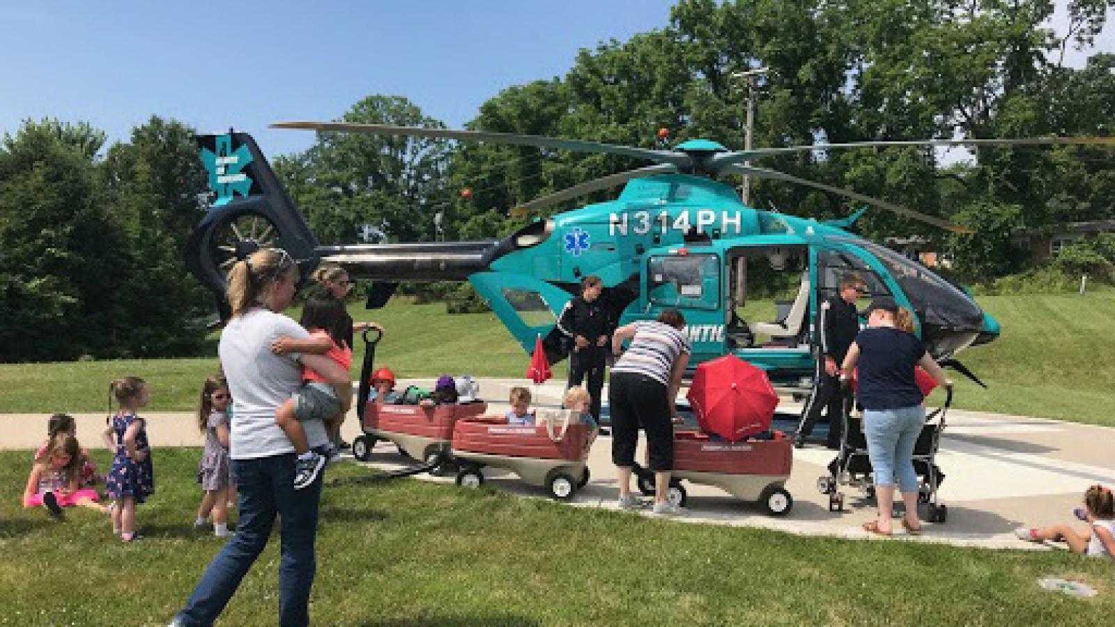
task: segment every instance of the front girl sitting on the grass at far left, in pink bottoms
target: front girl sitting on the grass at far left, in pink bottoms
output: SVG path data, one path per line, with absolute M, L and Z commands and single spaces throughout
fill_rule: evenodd
M 46 508 L 60 518 L 62 508 L 80 505 L 104 512 L 96 490 L 80 486 L 81 447 L 68 433 L 58 433 L 37 456 L 23 489 L 25 508 Z

